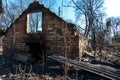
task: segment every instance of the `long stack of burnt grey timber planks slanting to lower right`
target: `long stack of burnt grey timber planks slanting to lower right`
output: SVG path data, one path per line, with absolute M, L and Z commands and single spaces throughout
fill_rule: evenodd
M 49 56 L 49 59 L 56 60 L 56 61 L 63 63 L 63 64 L 66 63 L 67 66 L 73 66 L 75 68 L 89 71 L 91 73 L 106 77 L 108 79 L 120 80 L 120 75 L 119 75 L 119 72 L 117 72 L 117 70 L 112 70 L 112 69 L 108 69 L 105 67 L 104 68 L 103 67 L 96 67 L 93 64 L 86 64 L 84 62 L 78 62 L 78 61 L 67 59 L 63 56 L 58 56 L 58 55 Z

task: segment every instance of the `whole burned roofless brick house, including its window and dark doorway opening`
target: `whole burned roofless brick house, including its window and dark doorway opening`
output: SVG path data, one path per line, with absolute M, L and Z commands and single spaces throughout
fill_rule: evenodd
M 34 1 L 6 30 L 3 39 L 3 54 L 31 54 L 40 58 L 43 54 L 78 57 L 88 45 L 88 40 L 79 33 L 76 26 Z M 81 56 L 81 55 L 79 55 Z

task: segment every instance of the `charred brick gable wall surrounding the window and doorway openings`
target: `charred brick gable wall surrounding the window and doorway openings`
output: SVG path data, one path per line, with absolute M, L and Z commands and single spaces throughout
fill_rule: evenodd
M 67 53 L 68 57 L 78 55 L 80 48 L 79 41 L 82 39 L 83 41 L 81 41 L 81 43 L 84 43 L 84 40 L 86 39 L 80 37 L 79 35 L 81 34 L 75 35 L 75 32 L 78 31 L 74 24 L 67 23 L 38 2 L 30 4 L 7 30 L 3 41 L 4 54 L 9 55 L 13 52 L 25 52 L 26 50 L 29 50 L 29 46 L 26 45 L 26 39 L 30 37 L 30 33 L 26 32 L 27 14 L 34 12 L 43 13 L 41 33 L 44 34 L 42 38 L 44 38 L 46 53 L 48 55 L 64 55 L 64 53 Z

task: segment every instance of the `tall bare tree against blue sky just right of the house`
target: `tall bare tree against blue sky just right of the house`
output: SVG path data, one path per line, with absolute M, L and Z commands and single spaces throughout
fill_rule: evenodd
M 72 0 L 75 5 L 77 21 L 84 21 L 84 36 L 90 38 L 93 50 L 96 50 L 97 32 L 103 27 L 104 0 Z

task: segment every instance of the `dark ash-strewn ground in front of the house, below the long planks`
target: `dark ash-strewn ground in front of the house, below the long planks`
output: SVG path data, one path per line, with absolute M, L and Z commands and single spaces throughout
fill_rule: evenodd
M 74 68 L 67 68 L 68 72 L 65 78 L 64 65 L 47 60 L 44 64 L 35 63 L 30 67 L 26 66 L 25 72 L 17 73 L 16 62 L 0 58 L 0 76 L 6 77 L 6 80 L 108 80 L 101 76 L 89 73 L 87 71 L 79 70 L 76 77 L 76 70 Z

